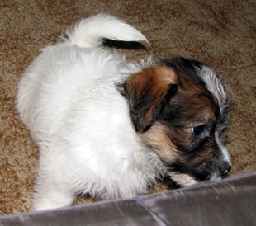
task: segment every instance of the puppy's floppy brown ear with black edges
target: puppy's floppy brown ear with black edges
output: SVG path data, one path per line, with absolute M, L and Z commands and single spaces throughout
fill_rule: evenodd
M 145 132 L 154 124 L 164 103 L 178 89 L 178 77 L 172 68 L 157 65 L 130 76 L 124 83 L 135 130 Z

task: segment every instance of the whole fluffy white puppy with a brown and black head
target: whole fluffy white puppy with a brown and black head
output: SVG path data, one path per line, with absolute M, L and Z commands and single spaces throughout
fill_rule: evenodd
M 230 172 L 221 136 L 229 109 L 214 70 L 184 58 L 131 64 L 102 38 L 145 41 L 104 14 L 85 19 L 26 70 L 17 111 L 40 150 L 33 210 L 145 194 L 156 179 L 180 186 Z

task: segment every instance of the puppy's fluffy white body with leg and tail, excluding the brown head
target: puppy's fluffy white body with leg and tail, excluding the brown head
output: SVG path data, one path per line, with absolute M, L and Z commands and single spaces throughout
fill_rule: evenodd
M 78 193 L 129 198 L 165 172 L 141 145 L 116 90 L 116 82 L 143 66 L 100 47 L 101 37 L 145 36 L 107 15 L 81 21 L 68 35 L 42 50 L 18 87 L 17 110 L 40 149 L 33 210 L 71 205 Z

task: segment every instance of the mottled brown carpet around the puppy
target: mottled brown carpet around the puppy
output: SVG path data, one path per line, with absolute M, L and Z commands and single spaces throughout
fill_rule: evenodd
M 17 82 L 45 45 L 84 17 L 107 12 L 141 31 L 150 46 L 121 50 L 138 60 L 182 55 L 216 68 L 233 107 L 226 145 L 230 176 L 256 170 L 254 0 L 0 0 L 0 214 L 30 209 L 38 153 L 15 110 Z M 168 189 L 159 184 L 150 192 Z M 80 197 L 78 203 L 93 201 Z

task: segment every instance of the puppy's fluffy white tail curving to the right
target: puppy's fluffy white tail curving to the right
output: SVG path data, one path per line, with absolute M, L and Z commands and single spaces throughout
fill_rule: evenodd
M 65 40 L 66 42 L 83 48 L 100 46 L 104 38 L 149 43 L 145 36 L 133 26 L 107 14 L 99 14 L 83 19 L 72 30 L 67 31 L 67 35 L 69 39 Z

